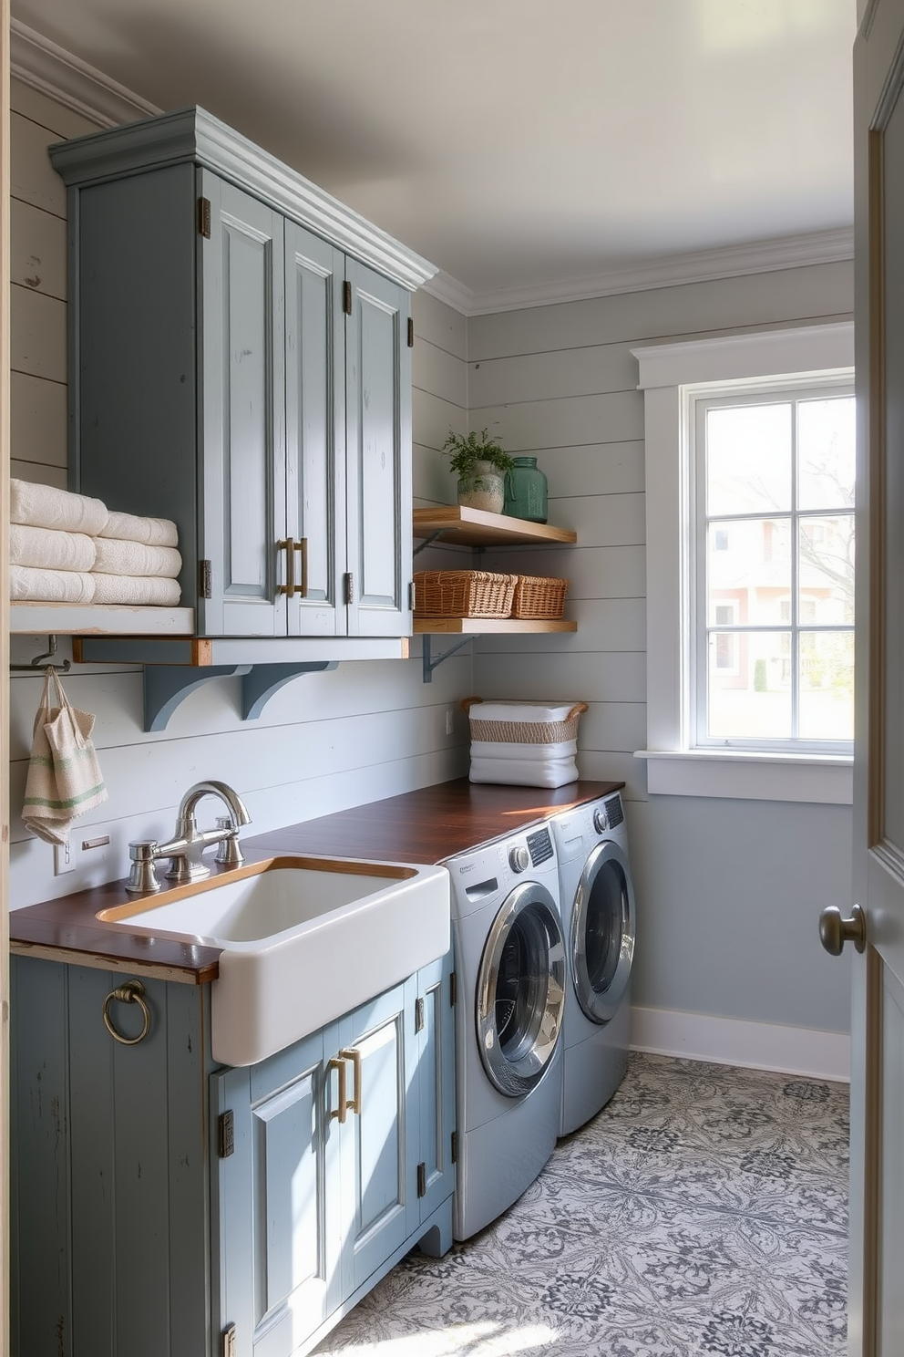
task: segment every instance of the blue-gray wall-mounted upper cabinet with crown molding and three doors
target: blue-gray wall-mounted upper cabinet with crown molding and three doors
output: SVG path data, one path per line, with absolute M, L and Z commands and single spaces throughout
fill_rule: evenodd
M 52 148 L 70 467 L 175 518 L 206 636 L 411 631 L 411 290 L 434 273 L 202 109 Z

